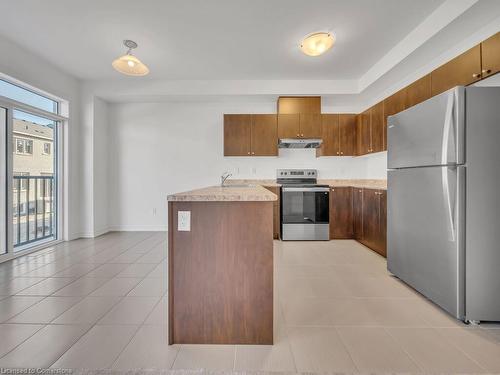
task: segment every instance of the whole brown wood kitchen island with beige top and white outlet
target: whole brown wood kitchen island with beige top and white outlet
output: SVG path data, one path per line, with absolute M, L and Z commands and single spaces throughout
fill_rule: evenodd
M 273 202 L 255 186 L 168 196 L 169 344 L 273 343 Z

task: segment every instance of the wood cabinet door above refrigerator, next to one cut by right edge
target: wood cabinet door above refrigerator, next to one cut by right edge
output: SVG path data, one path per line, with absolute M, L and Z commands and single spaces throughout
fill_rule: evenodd
M 481 45 L 455 57 L 431 73 L 431 94 L 440 94 L 455 86 L 467 86 L 481 79 Z

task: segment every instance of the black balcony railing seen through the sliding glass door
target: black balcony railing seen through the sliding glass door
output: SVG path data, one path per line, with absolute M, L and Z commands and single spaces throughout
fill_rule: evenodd
M 14 247 L 55 234 L 55 181 L 53 176 L 14 176 Z

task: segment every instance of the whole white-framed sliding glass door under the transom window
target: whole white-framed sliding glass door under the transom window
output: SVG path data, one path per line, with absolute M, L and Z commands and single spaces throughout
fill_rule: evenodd
M 0 98 L 0 262 L 58 239 L 63 121 Z

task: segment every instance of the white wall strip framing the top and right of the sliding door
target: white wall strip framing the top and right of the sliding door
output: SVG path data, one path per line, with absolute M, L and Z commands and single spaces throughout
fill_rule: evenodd
M 20 46 L 0 37 L 0 73 L 55 95 L 69 102 L 69 122 L 66 129 L 68 184 L 63 199 L 66 202 L 65 239 L 80 234 L 80 149 L 79 99 L 80 82 L 49 62 Z

